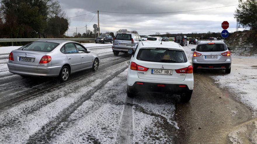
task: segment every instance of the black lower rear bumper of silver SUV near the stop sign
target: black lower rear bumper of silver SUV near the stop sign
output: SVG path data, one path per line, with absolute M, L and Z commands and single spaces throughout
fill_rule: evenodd
M 192 66 L 199 69 L 229 69 L 231 63 L 192 63 Z

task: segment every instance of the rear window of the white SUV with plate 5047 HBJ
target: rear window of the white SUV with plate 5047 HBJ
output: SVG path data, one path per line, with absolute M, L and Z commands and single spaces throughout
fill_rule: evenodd
M 185 63 L 187 62 L 184 51 L 171 49 L 140 49 L 137 54 L 140 61 L 151 61 L 161 63 Z

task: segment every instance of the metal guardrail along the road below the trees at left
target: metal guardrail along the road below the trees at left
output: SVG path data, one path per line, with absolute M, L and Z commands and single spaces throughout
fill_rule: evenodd
M 2 38 L 0 42 L 34 42 L 37 40 L 72 40 L 72 41 L 83 41 L 83 40 L 95 40 L 94 38 Z

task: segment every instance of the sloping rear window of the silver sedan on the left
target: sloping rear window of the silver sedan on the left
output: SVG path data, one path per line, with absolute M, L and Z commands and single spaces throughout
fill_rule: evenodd
M 31 42 L 21 48 L 20 50 L 27 50 L 27 51 L 42 51 L 42 52 L 50 52 L 55 47 L 60 45 L 59 43 L 54 42 Z

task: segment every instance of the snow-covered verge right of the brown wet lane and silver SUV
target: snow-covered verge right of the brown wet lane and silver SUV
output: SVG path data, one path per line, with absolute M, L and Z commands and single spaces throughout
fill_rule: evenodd
M 257 58 L 232 57 L 231 73 L 211 76 L 221 88 L 230 92 L 257 115 Z

